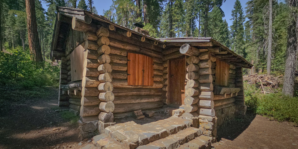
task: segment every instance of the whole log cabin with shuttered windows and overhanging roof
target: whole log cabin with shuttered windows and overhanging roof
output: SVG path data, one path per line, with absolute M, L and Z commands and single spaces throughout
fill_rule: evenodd
M 51 60 L 61 60 L 58 105 L 82 122 L 113 122 L 165 107 L 217 117 L 245 114 L 242 68 L 252 64 L 213 38 L 152 38 L 103 16 L 58 7 Z

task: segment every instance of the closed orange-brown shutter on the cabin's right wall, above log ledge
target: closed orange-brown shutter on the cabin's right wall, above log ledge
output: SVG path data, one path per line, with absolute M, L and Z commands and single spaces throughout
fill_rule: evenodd
M 224 61 L 216 60 L 215 85 L 228 86 L 230 65 Z

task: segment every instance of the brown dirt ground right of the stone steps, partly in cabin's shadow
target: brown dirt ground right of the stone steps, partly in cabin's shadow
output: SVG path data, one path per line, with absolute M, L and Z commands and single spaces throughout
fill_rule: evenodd
M 247 115 L 222 130 L 216 149 L 298 149 L 298 127 L 293 123 Z

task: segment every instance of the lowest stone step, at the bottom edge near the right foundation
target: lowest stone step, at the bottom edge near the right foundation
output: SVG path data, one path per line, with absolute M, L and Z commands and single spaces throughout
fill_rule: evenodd
M 210 149 L 212 137 L 201 135 L 176 149 Z

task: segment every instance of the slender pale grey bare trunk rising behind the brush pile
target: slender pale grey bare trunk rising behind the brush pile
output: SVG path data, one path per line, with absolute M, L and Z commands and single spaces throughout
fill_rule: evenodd
M 270 75 L 270 71 L 271 71 L 271 51 L 272 51 L 272 0 L 269 0 L 269 35 L 268 35 L 267 75 Z

